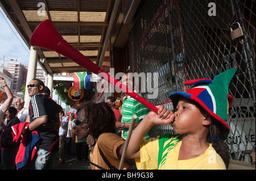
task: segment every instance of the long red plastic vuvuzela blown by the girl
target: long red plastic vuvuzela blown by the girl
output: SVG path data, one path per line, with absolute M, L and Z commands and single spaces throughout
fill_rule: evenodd
M 60 33 L 53 26 L 51 20 L 44 20 L 38 25 L 38 27 L 36 27 L 34 33 L 31 36 L 30 44 L 34 47 L 45 48 L 60 53 L 70 60 L 76 62 L 77 64 L 83 66 L 85 69 L 92 71 L 94 74 L 98 75 L 99 73 L 105 73 L 107 76 L 104 76 L 103 78 L 106 81 L 114 86 L 117 86 L 132 98 L 138 100 L 138 102 L 150 108 L 150 110 L 158 113 L 157 107 L 152 105 L 146 99 L 143 99 L 142 96 L 138 95 L 136 92 L 121 84 L 119 81 L 117 81 L 117 79 L 113 78 L 111 75 L 90 61 L 89 58 L 85 57 L 82 53 L 73 48 L 72 45 L 63 39 Z

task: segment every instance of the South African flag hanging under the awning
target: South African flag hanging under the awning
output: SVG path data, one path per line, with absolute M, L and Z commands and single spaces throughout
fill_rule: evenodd
M 83 72 L 74 72 L 74 89 L 92 89 L 90 87 L 90 75 L 87 74 L 87 71 Z

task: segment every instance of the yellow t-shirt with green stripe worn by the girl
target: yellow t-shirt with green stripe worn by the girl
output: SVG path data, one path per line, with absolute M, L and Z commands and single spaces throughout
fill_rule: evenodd
M 161 137 L 161 138 L 160 138 Z M 162 138 L 163 137 L 163 138 Z M 163 141 L 163 140 L 164 141 Z M 160 141 L 162 140 L 162 141 Z M 142 170 L 225 170 L 220 155 L 209 144 L 205 153 L 196 158 L 178 160 L 182 141 L 174 134 L 166 134 L 141 142 L 141 157 L 135 159 L 137 169 Z M 163 149 L 159 149 L 163 148 Z

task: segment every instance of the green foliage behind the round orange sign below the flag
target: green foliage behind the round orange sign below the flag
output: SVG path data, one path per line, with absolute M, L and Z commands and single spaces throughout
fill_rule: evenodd
M 76 101 L 71 100 L 68 96 L 68 90 L 72 87 L 72 82 L 58 82 L 53 87 L 56 90 L 56 94 L 59 95 L 59 99 L 68 106 L 74 106 Z M 86 102 L 92 99 L 92 89 L 84 89 L 84 97 L 79 102 Z

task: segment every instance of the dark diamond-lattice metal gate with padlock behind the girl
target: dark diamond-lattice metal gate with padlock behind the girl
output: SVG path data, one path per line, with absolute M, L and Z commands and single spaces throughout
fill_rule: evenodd
M 232 40 L 231 28 L 236 30 L 239 24 L 243 36 Z M 231 131 L 226 142 L 230 159 L 251 162 L 250 153 L 255 151 L 255 0 L 144 1 L 129 48 L 132 73 L 159 75 L 158 86 L 153 76 L 147 77 L 151 89 L 141 92 L 143 96 L 154 105 L 170 109 L 168 95 L 184 91 L 185 81 L 213 79 L 238 66 L 230 83 L 235 99 L 228 116 Z M 149 99 L 156 90 L 158 96 Z M 150 132 L 158 136 L 172 129 L 170 125 L 157 125 Z

